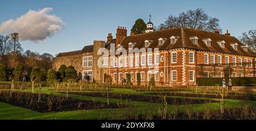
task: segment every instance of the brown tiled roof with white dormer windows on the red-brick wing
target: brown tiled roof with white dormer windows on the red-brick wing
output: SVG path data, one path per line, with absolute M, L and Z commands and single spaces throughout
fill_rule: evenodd
M 170 37 L 179 37 L 175 43 L 171 44 Z M 198 42 L 197 45 L 193 44 L 191 41 L 191 37 L 197 37 Z M 167 40 L 163 43 L 163 45 L 159 45 L 159 38 L 167 38 Z M 207 46 L 203 40 L 205 38 L 209 38 L 212 40 L 210 46 Z M 216 51 L 221 53 L 231 53 L 238 55 L 251 55 L 256 56 L 256 53 L 248 49 L 248 51 L 244 51 L 241 46 L 244 46 L 236 37 L 227 36 L 225 34 L 218 34 L 214 32 L 205 32 L 197 29 L 189 29 L 189 28 L 174 28 L 174 29 L 166 29 L 159 30 L 156 32 L 137 34 L 135 36 L 127 36 L 121 42 L 121 46 L 126 50 L 129 49 L 129 43 L 135 42 L 134 48 L 141 49 L 145 47 L 144 41 L 152 40 L 150 46 L 148 48 L 159 48 L 159 50 L 167 50 L 167 49 L 177 49 L 177 48 L 188 48 L 188 49 L 197 49 L 197 50 L 206 50 L 206 51 Z M 218 45 L 217 41 L 225 41 L 225 47 L 222 48 Z M 234 50 L 232 43 L 237 43 L 237 50 Z

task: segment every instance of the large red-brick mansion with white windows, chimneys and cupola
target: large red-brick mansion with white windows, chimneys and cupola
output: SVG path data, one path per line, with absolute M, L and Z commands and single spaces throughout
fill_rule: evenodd
M 255 77 L 256 53 L 230 36 L 218 32 L 204 32 L 189 28 L 154 31 L 147 23 L 146 33 L 131 33 L 118 27 L 116 38 L 111 33 L 106 41 L 94 41 L 82 50 L 60 53 L 53 68 L 73 65 L 80 75 L 104 82 L 104 75 L 113 84 L 121 84 L 126 74 L 142 85 L 154 76 L 159 86 L 195 85 L 197 77 Z M 100 49 L 103 49 L 100 51 Z

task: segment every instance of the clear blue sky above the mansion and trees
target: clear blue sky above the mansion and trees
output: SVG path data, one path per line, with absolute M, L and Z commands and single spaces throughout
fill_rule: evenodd
M 3 0 L 0 0 L 3 1 Z M 203 8 L 210 16 L 220 19 L 220 26 L 229 29 L 232 36 L 256 29 L 256 1 L 151 1 L 151 0 L 13 0 L 1 2 L 0 23 L 19 18 L 28 10 L 53 8 L 51 15 L 60 17 L 65 28 L 44 43 L 21 41 L 24 50 L 50 53 L 80 50 L 92 45 L 93 40 L 106 40 L 108 33 L 115 36 L 116 28 L 121 25 L 130 29 L 134 21 L 142 18 L 146 23 L 152 14 L 152 22 L 157 26 L 168 15 L 182 11 Z

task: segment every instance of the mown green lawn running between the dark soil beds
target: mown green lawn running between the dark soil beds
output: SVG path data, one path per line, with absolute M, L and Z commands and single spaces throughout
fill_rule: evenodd
M 31 91 L 31 89 L 24 89 L 19 91 Z M 38 88 L 35 88 L 35 92 L 38 91 Z M 53 93 L 50 88 L 43 87 L 42 92 L 45 94 Z M 95 91 L 94 91 L 95 92 Z M 102 92 L 102 91 L 97 91 Z M 147 92 L 138 92 L 133 89 L 112 89 L 110 93 L 126 93 L 126 94 L 139 94 L 139 95 L 148 95 Z M 65 94 L 54 93 L 55 95 L 65 96 Z M 179 96 L 176 96 L 179 97 Z M 77 99 L 86 99 L 86 100 L 94 100 L 107 102 L 106 98 L 96 98 L 96 97 L 88 97 L 82 95 L 71 95 L 69 94 L 69 98 L 77 98 Z M 183 97 L 184 98 L 184 97 Z M 196 98 L 196 99 L 212 99 L 212 98 Z M 219 101 L 219 99 L 213 99 Z M 139 102 L 139 101 L 125 101 L 122 99 L 110 99 L 112 103 L 127 103 L 137 108 L 117 108 L 117 109 L 101 109 L 101 110 L 80 110 L 80 111 L 65 111 L 65 112 L 49 112 L 49 113 L 39 113 L 31 110 L 27 110 L 26 108 L 20 108 L 11 106 L 10 104 L 5 104 L 0 102 L 0 119 L 108 119 L 110 116 L 117 115 L 116 117 L 127 116 L 130 115 L 139 115 L 144 112 L 151 111 L 153 113 L 157 113 L 159 106 L 162 107 L 163 104 L 159 103 L 147 103 L 147 102 Z M 243 101 L 243 100 L 235 100 L 235 99 L 225 99 L 224 100 L 224 108 L 239 108 L 244 104 L 250 106 L 256 106 L 255 101 Z M 220 103 L 207 103 L 207 104 L 191 104 L 189 108 L 193 111 L 204 111 L 206 107 L 209 107 L 210 110 L 220 110 Z M 173 112 L 176 107 L 172 105 L 168 105 L 167 110 L 169 112 Z M 188 108 L 187 105 L 179 106 L 179 111 L 184 112 L 185 108 Z

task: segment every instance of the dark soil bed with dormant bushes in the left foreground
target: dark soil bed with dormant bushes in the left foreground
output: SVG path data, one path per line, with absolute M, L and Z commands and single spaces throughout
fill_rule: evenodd
M 10 91 L 0 91 L 0 102 L 11 104 L 13 106 L 27 108 L 38 112 L 59 112 L 74 110 L 93 110 L 102 108 L 122 108 L 122 104 L 88 101 L 59 97 L 56 95 L 41 94 L 41 101 L 38 102 L 38 94 L 18 92 L 11 94 Z

